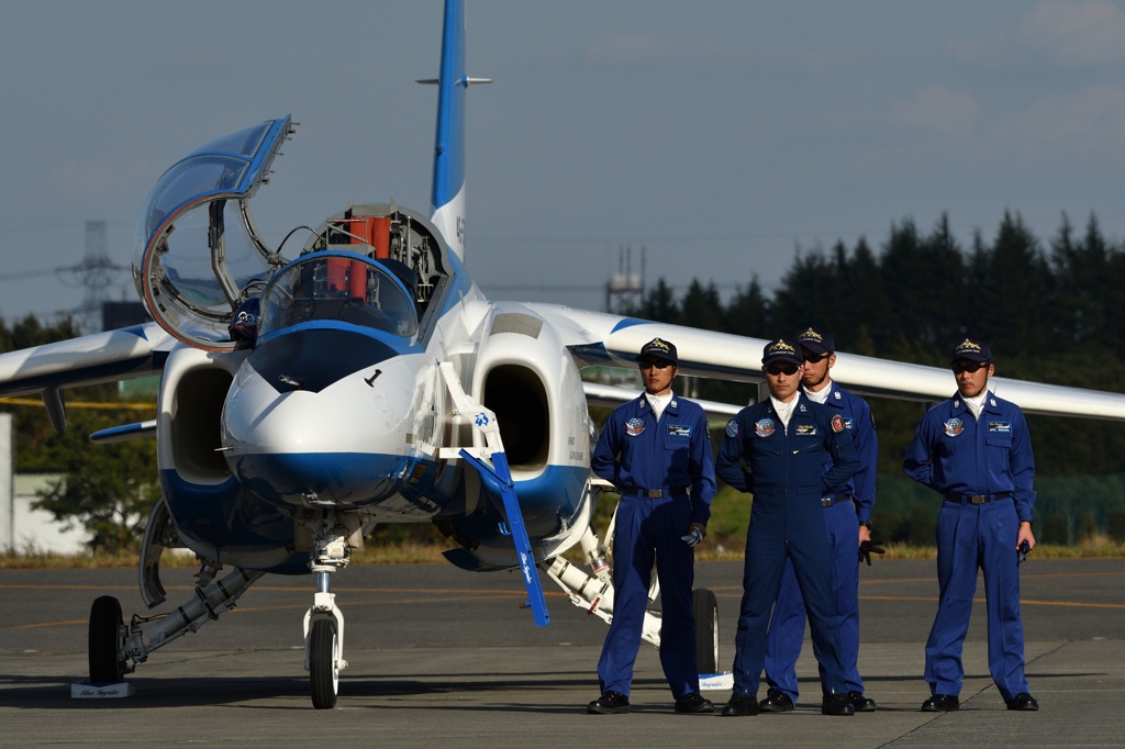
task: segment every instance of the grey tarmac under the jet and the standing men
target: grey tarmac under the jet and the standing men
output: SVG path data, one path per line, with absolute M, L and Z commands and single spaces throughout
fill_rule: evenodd
M 806 643 L 794 712 L 678 715 L 657 651 L 642 646 L 627 715 L 588 715 L 605 624 L 544 578 L 551 623 L 521 608 L 518 575 L 450 566 L 353 566 L 335 576 L 345 617 L 340 698 L 314 710 L 302 619 L 310 577 L 268 576 L 240 606 L 152 653 L 120 700 L 73 700 L 87 675 L 87 620 L 101 595 L 151 615 L 136 571 L 0 571 L 0 743 L 270 746 L 346 740 L 405 747 L 817 746 L 1097 747 L 1125 745 L 1125 560 L 1030 559 L 1022 566 L 1026 673 L 1035 713 L 1006 710 L 987 667 L 983 585 L 965 643 L 962 706 L 922 713 L 924 643 L 936 608 L 932 560 L 861 569 L 860 668 L 879 710 L 820 714 Z M 190 569 L 164 570 L 165 611 L 192 595 Z M 719 599 L 721 662 L 734 657 L 740 562 L 696 565 Z M 759 697 L 764 696 L 764 688 Z M 717 706 L 727 692 L 704 696 Z

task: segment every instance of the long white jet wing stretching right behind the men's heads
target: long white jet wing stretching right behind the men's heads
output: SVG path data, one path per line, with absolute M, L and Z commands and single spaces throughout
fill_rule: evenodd
M 768 341 L 636 317 L 547 304 L 526 306 L 550 322 L 584 366 L 633 368 L 641 346 L 654 337 L 676 344 L 683 374 L 762 381 L 762 349 Z M 948 369 L 837 352 L 832 380 L 853 392 L 936 401 L 956 391 Z M 1125 421 L 1125 395 L 994 377 L 990 389 L 1025 413 Z

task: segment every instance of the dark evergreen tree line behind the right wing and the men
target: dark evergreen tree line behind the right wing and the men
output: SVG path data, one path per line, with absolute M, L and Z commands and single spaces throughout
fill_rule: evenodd
M 969 245 L 943 216 L 928 233 L 911 219 L 892 225 L 878 251 L 865 238 L 799 250 L 768 294 L 756 276 L 726 300 L 714 283 L 695 280 L 677 296 L 660 279 L 627 314 L 767 340 L 814 325 L 840 351 L 943 368 L 972 336 L 990 342 L 998 376 L 1123 392 L 1123 309 L 1125 246 L 1104 236 L 1095 217 L 1078 232 L 1063 216 L 1041 242 L 1018 214 L 1006 213 L 993 237 L 978 231 Z M 950 395 L 955 389 L 951 373 Z M 745 403 L 747 392 L 699 385 L 700 397 L 732 403 Z M 870 403 L 880 439 L 876 523 L 891 540 L 932 540 L 938 503 L 901 471 L 926 406 Z M 1125 541 L 1125 424 L 1044 416 L 1028 423 L 1041 535 L 1068 543 L 1109 530 Z

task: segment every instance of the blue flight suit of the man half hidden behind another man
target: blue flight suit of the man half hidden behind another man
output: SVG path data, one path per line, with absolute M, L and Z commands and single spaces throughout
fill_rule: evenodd
M 860 470 L 844 485 L 843 491 L 830 497 L 834 504 L 825 508 L 825 525 L 835 559 L 832 597 L 840 617 L 840 659 L 847 673 L 848 692 L 863 693 L 860 677 L 860 523 L 871 520 L 875 504 L 875 468 L 879 461 L 879 437 L 871 406 L 829 380 L 825 406 L 844 418 L 860 458 Z M 804 392 L 802 386 L 801 392 Z M 825 470 L 831 468 L 831 461 Z M 826 497 L 829 498 L 829 497 Z M 770 632 L 766 635 L 766 683 L 771 689 L 798 696 L 796 659 L 804 640 L 804 599 L 796 584 L 793 562 L 785 560 L 785 571 L 774 604 Z

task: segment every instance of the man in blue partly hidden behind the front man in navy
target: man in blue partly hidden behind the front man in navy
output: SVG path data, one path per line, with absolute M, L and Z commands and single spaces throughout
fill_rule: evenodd
M 870 562 L 871 554 L 871 508 L 875 503 L 875 468 L 879 461 L 879 437 L 871 406 L 860 396 L 838 386 L 829 377 L 836 363 L 836 344 L 831 336 L 810 327 L 796 336 L 796 345 L 804 359 L 801 374 L 801 394 L 810 400 L 824 404 L 834 414 L 844 417 L 844 424 L 852 435 L 860 470 L 835 496 L 821 497 L 825 508 L 825 524 L 835 559 L 835 584 L 832 596 L 836 613 L 840 617 L 840 657 L 847 673 L 847 698 L 857 713 L 874 712 L 875 701 L 863 694 L 863 678 L 860 676 L 860 567 L 861 543 Z M 825 470 L 831 468 L 831 462 Z M 882 552 L 878 547 L 876 553 Z M 798 696 L 796 659 L 801 655 L 804 640 L 804 599 L 796 585 L 793 565 L 785 561 L 781 578 L 781 590 L 770 620 L 766 635 L 766 683 L 770 689 L 759 703 L 762 712 L 783 713 L 793 710 Z

